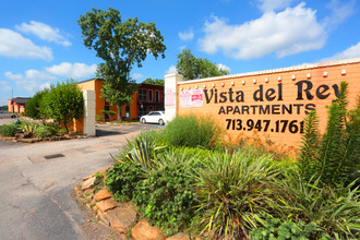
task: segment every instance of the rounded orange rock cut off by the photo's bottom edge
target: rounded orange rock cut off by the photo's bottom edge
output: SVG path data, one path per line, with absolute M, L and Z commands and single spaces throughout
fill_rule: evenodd
M 135 240 L 165 240 L 159 227 L 152 227 L 146 218 L 141 219 L 131 230 L 131 235 Z

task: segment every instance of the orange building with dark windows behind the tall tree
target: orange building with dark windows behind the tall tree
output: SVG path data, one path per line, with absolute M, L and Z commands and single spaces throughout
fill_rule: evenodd
M 103 80 L 91 79 L 77 84 L 81 89 L 95 91 L 96 115 L 105 117 L 106 121 L 117 120 L 118 116 L 104 116 L 101 110 L 118 112 L 116 106 L 110 106 L 101 97 Z M 140 84 L 137 92 L 132 96 L 130 105 L 122 106 L 121 113 L 123 119 L 135 120 L 149 111 L 164 110 L 164 86 L 151 84 Z

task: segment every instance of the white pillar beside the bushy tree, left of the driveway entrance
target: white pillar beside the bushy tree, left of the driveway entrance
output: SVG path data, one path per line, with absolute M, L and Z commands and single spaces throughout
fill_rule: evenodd
M 84 89 L 84 134 L 95 136 L 95 91 Z

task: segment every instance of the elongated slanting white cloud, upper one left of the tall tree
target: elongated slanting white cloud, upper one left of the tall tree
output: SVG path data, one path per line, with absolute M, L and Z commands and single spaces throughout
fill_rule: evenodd
M 24 34 L 33 34 L 43 40 L 55 41 L 62 46 L 71 46 L 71 43 L 64 36 L 60 35 L 58 28 L 52 28 L 45 23 L 31 21 L 29 24 L 22 23 L 21 25 L 16 25 L 15 28 Z

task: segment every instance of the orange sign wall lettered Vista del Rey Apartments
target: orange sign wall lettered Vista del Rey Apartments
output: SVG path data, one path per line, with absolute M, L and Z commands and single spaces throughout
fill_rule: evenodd
M 276 143 L 299 146 L 312 110 L 325 130 L 327 108 L 348 83 L 349 107 L 360 94 L 360 59 L 180 82 L 178 115 L 216 119 L 232 140 L 256 131 Z

